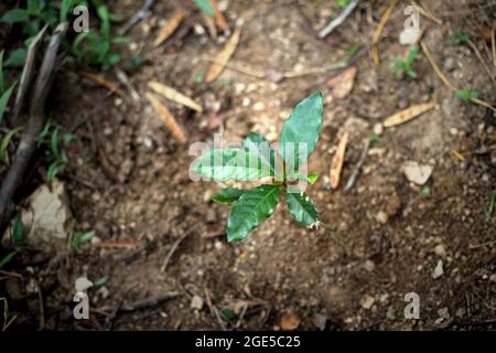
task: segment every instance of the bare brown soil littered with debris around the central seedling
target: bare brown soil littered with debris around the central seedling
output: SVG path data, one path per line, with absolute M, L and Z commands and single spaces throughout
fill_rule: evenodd
M 61 176 L 69 190 L 76 227 L 95 229 L 101 240 L 137 242 L 143 248 L 100 249 L 87 244 L 51 271 L 36 267 L 35 271 L 45 270 L 41 280 L 52 284 L 45 286 L 50 287 L 46 329 L 87 330 L 98 328 L 96 321 L 114 329 L 222 329 L 215 310 L 225 308 L 236 314 L 224 320 L 227 329 L 279 330 L 287 312 L 296 314 L 305 330 L 322 328 L 325 320 L 326 329 L 342 330 L 494 329 L 496 218 L 487 216 L 487 207 L 496 184 L 495 118 L 490 110 L 454 97 L 423 53 L 414 62 L 417 79 L 399 79 L 390 72 L 392 57 L 408 51 L 398 43 L 405 3 L 386 24 L 378 67 L 367 45 L 384 3 L 360 6 L 328 41 L 311 36 L 302 24 L 322 28 L 336 10 L 333 1 L 228 3 L 228 22 L 242 29 L 233 62 L 246 67 L 303 72 L 339 61 L 353 44 L 365 49 L 355 64 L 353 92 L 325 104 L 324 128 L 309 168 L 321 175 L 309 194 L 335 232 L 321 228 L 314 234 L 295 224 L 280 204 L 246 242 L 227 243 L 229 207 L 208 201 L 219 185 L 190 180 L 194 157 L 188 156 L 188 146 L 212 140 L 222 128 L 228 141 L 240 141 L 251 130 L 277 138 L 294 104 L 315 89 L 325 93 L 319 79 L 336 73 L 276 84 L 225 69 L 213 84 L 198 84 L 195 77 L 209 66 L 201 58 L 214 57 L 224 44 L 191 33 L 175 52 L 164 46 L 152 50 L 161 19 L 173 10 L 170 2 L 159 2 L 152 18 L 131 31 L 136 51 L 144 57 L 143 65 L 129 73 L 132 85 L 144 97 L 149 81 L 162 82 L 202 101 L 209 111 L 196 114 L 168 103 L 187 131 L 188 143 L 180 145 L 144 99 L 137 104 L 72 75 L 58 75 L 52 116 L 65 126 L 76 118 L 86 121 L 68 150 L 71 169 Z M 450 1 L 424 6 L 436 15 L 466 7 Z M 129 15 L 137 7 L 119 4 L 115 11 Z M 368 22 L 367 9 L 374 23 Z M 484 19 L 490 17 L 489 10 L 478 11 Z M 460 28 L 470 17 L 443 20 Z M 490 101 L 493 83 L 473 51 L 449 45 L 446 26 L 424 17 L 421 25 L 427 26 L 424 41 L 446 75 Z M 115 77 L 111 72 L 106 76 Z M 430 100 L 439 108 L 386 129 L 371 143 L 356 184 L 345 191 L 363 140 L 374 126 L 395 111 Z M 328 174 L 343 127 L 351 131 L 349 143 L 341 185 L 331 191 L 323 175 Z M 85 156 L 93 157 L 90 162 Z M 433 167 L 427 184 L 430 196 L 422 196 L 422 186 L 409 183 L 401 172 L 409 160 Z M 377 220 L 379 212 L 386 213 L 386 223 Z M 185 234 L 161 272 L 171 247 Z M 440 260 L 444 271 L 434 279 Z M 132 313 L 106 318 L 96 312 L 96 320 L 75 321 L 71 318 L 74 280 L 82 275 L 91 280 L 109 278 L 105 289 L 90 291 L 91 308 L 170 291 L 181 296 Z M 408 292 L 420 296 L 420 320 L 403 318 Z M 205 300 L 202 310 L 191 308 L 194 296 Z M 36 306 L 30 308 L 32 313 L 20 325 L 37 324 Z

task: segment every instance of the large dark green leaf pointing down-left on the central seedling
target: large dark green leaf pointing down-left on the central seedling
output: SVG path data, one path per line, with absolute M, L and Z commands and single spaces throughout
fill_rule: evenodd
M 230 210 L 227 221 L 227 240 L 240 242 L 267 220 L 279 202 L 280 185 L 261 185 L 245 191 Z

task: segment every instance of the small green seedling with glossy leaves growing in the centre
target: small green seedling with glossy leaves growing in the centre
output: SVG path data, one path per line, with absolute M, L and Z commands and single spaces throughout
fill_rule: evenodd
M 316 92 L 296 105 L 282 126 L 279 148 L 251 132 L 242 148 L 212 149 L 195 160 L 192 170 L 204 180 L 217 182 L 252 181 L 271 178 L 270 184 L 250 190 L 227 188 L 212 199 L 233 204 L 227 221 L 228 242 L 244 240 L 276 210 L 284 195 L 291 216 L 303 226 L 316 229 L 320 215 L 301 184 L 314 183 L 316 174 L 302 172 L 319 141 L 323 99 Z

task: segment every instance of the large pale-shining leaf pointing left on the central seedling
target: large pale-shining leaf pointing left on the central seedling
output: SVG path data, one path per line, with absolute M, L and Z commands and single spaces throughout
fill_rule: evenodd
M 193 170 L 207 180 L 250 181 L 270 176 L 270 170 L 262 168 L 258 153 L 245 149 L 213 149 L 202 154 Z

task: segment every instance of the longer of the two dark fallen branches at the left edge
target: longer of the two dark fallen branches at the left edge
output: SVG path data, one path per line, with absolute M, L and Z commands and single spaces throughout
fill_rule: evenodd
M 15 151 L 12 165 L 3 179 L 0 189 L 0 238 L 14 211 L 13 196 L 24 180 L 24 173 L 36 147 L 36 139 L 45 125 L 45 101 L 56 72 L 56 56 L 62 38 L 67 31 L 67 23 L 61 23 L 52 35 L 46 49 L 40 73 L 36 77 L 31 97 L 29 119 Z

